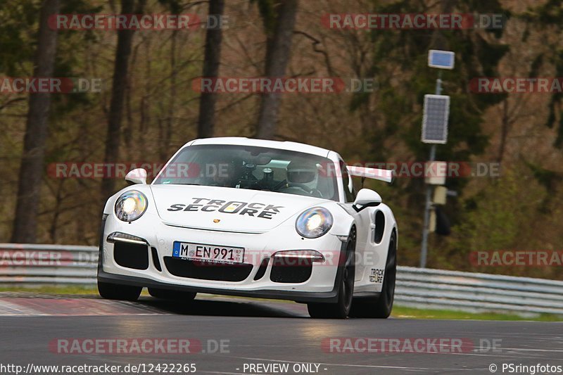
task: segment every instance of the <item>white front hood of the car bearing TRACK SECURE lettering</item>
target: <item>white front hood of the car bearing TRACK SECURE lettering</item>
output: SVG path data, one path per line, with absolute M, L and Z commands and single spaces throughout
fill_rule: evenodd
M 151 191 L 164 224 L 239 233 L 270 231 L 306 208 L 331 202 L 215 186 L 151 185 Z

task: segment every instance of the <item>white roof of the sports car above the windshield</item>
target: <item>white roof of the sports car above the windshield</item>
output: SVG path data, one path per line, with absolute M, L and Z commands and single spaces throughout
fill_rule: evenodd
M 235 146 L 277 148 L 280 150 L 310 153 L 312 155 L 322 156 L 323 158 L 327 158 L 330 152 L 330 150 L 327 150 L 326 148 L 311 146 L 309 144 L 300 144 L 298 142 L 268 141 L 265 139 L 252 139 L 252 138 L 244 138 L 241 136 L 223 136 L 217 138 L 196 139 L 195 141 L 188 142 L 185 146 L 195 146 L 195 145 L 205 145 L 205 144 L 225 144 L 225 145 L 228 144 Z

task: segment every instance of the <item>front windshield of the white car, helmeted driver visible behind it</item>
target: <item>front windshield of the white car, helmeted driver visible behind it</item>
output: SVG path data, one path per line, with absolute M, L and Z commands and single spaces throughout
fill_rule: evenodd
M 334 163 L 308 153 L 232 145 L 188 146 L 153 184 L 222 186 L 338 201 Z

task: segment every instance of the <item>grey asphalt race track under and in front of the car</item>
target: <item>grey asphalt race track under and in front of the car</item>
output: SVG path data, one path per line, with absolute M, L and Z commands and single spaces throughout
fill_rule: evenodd
M 372 352 L 365 352 L 364 338 L 372 339 Z M 393 340 L 398 344 L 381 352 Z M 118 353 L 118 341 L 125 353 Z M 563 367 L 563 323 L 317 320 L 305 305 L 210 295 L 177 305 L 148 297 L 125 303 L 0 293 L 0 345 L 0 374 L 15 374 L 15 367 L 2 367 L 8 364 L 38 375 L 54 371 L 37 365 L 82 364 L 122 366 L 115 374 L 143 373 L 124 371 L 127 364 L 144 364 L 146 374 L 172 374 L 164 364 L 195 364 L 196 374 L 491 374 L 491 364 L 509 374 L 502 364 Z

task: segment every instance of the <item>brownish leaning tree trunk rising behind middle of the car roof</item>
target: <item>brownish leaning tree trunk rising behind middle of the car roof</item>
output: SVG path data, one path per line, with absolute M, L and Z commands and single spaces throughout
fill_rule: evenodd
M 265 75 L 281 78 L 286 74 L 291 51 L 291 39 L 297 14 L 298 0 L 281 0 L 275 20 L 274 32 L 268 35 Z M 279 93 L 263 93 L 258 113 L 258 138 L 272 139 L 277 122 Z

